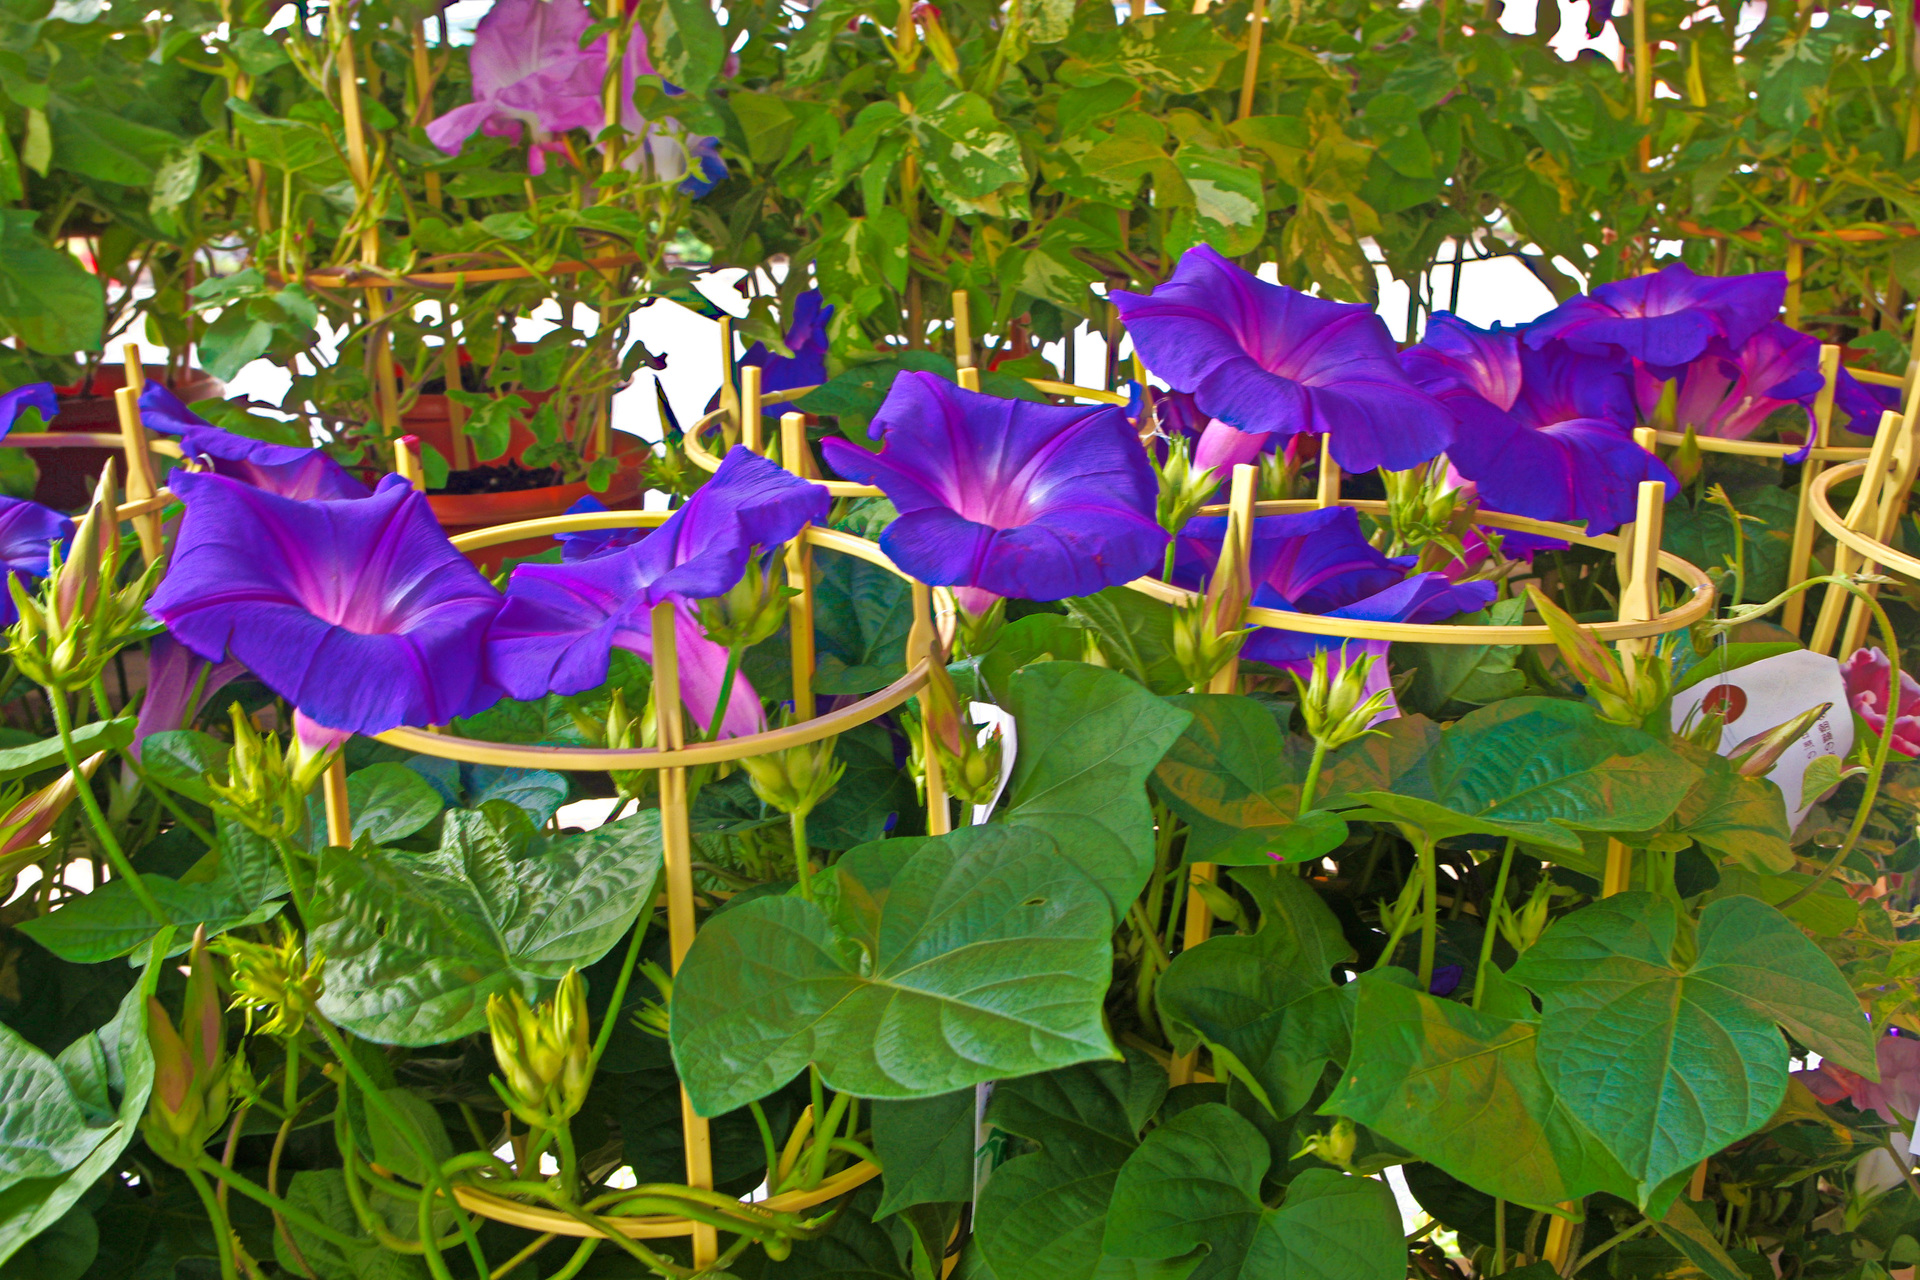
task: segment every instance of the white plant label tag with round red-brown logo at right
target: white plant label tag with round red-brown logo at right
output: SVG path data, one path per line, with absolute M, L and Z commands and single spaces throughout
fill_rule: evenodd
M 1709 712 L 1726 716 L 1716 750 L 1724 756 L 1749 737 L 1793 720 L 1822 702 L 1828 712 L 1812 722 L 1805 737 L 1791 743 L 1766 777 L 1780 787 L 1788 804 L 1788 827 L 1799 827 L 1818 794 L 1803 796 L 1801 779 L 1820 756 L 1845 758 L 1853 750 L 1853 712 L 1839 664 L 1826 654 L 1797 651 L 1761 658 L 1732 672 L 1711 676 L 1674 695 L 1672 727 Z

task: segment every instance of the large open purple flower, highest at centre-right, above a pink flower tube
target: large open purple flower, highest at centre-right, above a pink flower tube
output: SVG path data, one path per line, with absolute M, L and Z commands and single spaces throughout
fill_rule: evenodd
M 1350 472 L 1446 449 L 1450 415 L 1407 382 L 1371 307 L 1267 284 L 1204 244 L 1152 294 L 1116 290 L 1114 303 L 1146 367 L 1229 426 L 1331 434 Z

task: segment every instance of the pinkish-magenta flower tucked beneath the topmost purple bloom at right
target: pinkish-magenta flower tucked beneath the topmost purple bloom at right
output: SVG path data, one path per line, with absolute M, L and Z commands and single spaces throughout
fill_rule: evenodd
M 1736 355 L 1703 355 L 1680 372 L 1674 430 L 1745 439 L 1788 405 L 1812 411 L 1822 386 L 1820 340 L 1776 320 L 1749 338 Z M 1634 399 L 1642 418 L 1653 416 L 1665 388 L 1665 378 L 1645 368 L 1634 370 Z

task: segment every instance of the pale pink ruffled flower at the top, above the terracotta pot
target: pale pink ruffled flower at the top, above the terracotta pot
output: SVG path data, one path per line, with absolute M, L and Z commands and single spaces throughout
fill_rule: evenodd
M 532 130 L 526 167 L 545 173 L 547 152 L 564 152 L 559 134 L 597 130 L 607 119 L 607 38 L 580 48 L 591 25 L 580 0 L 497 0 L 474 29 L 474 100 L 430 121 L 426 138 L 459 155 L 474 132 L 518 142 L 524 127 Z

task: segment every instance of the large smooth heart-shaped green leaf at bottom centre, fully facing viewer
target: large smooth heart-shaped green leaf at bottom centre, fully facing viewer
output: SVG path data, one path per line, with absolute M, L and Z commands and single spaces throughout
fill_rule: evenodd
M 925 1098 L 1114 1055 L 1100 1021 L 1106 894 L 1039 831 L 883 841 L 837 873 L 839 912 L 755 898 L 707 921 L 687 952 L 670 1038 L 701 1115 L 762 1098 L 808 1061 L 835 1090 Z

